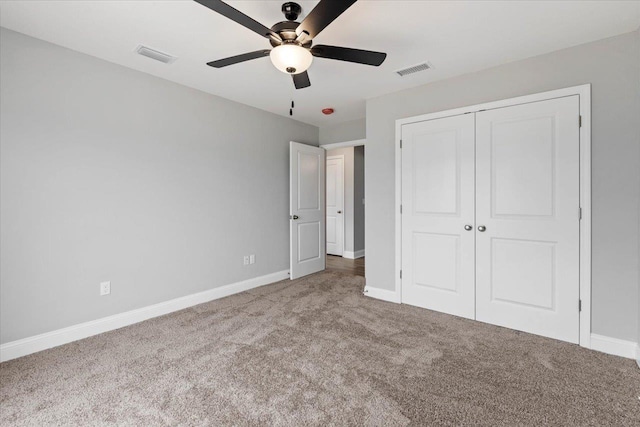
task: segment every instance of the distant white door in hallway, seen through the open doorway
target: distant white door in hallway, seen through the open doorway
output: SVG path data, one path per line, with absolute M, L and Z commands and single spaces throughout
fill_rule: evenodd
M 327 157 L 327 253 L 344 253 L 344 156 Z

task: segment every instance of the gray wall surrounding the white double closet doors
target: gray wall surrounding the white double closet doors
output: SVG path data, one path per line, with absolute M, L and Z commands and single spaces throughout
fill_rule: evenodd
M 367 286 L 394 289 L 395 120 L 592 84 L 592 331 L 638 337 L 638 32 L 367 101 Z

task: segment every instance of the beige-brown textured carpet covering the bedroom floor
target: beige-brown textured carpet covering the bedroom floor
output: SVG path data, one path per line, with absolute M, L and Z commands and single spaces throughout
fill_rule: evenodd
M 640 425 L 632 360 L 325 272 L 0 365 L 0 425 Z

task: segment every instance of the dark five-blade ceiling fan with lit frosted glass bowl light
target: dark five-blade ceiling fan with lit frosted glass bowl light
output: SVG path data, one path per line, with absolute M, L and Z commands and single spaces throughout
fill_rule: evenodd
M 369 50 L 326 45 L 311 46 L 313 39 L 320 31 L 357 0 L 321 0 L 302 22 L 296 22 L 298 15 L 302 12 L 300 5 L 286 2 L 282 5 L 282 12 L 287 20 L 278 22 L 271 28 L 265 27 L 221 0 L 195 1 L 269 39 L 273 47 L 273 49 L 257 50 L 207 63 L 214 68 L 270 56 L 271 62 L 278 70 L 293 76 L 296 89 L 302 89 L 311 86 L 307 69 L 314 56 L 374 66 L 382 64 L 387 57 L 386 53 Z

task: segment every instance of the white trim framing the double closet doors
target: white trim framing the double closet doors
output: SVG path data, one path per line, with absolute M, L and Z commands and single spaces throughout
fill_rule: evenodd
M 582 301 L 580 346 L 591 348 L 591 84 L 396 120 L 395 294 L 397 301 L 401 301 L 402 292 L 402 279 L 400 278 L 402 268 L 402 216 L 400 215 L 400 204 L 402 203 L 402 156 L 400 152 L 402 125 L 573 95 L 580 97 L 582 120 L 580 128 L 580 205 L 582 207 L 582 221 L 580 223 L 580 299 Z

